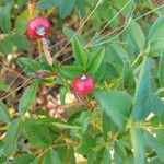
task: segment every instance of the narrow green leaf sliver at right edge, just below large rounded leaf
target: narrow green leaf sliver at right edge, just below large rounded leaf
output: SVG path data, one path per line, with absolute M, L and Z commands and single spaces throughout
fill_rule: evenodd
M 164 87 L 164 50 L 160 57 L 160 65 L 159 65 L 159 83 L 161 87 Z

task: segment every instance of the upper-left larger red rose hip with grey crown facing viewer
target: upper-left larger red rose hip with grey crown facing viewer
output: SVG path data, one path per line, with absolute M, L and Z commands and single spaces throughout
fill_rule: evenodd
M 38 39 L 44 38 L 51 32 L 51 25 L 46 17 L 34 17 L 26 26 L 26 33 L 30 38 Z

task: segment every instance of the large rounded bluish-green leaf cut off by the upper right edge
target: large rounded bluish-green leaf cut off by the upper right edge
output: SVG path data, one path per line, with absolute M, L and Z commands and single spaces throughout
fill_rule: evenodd
M 149 32 L 150 56 L 160 56 L 164 43 L 164 16 L 159 17 Z

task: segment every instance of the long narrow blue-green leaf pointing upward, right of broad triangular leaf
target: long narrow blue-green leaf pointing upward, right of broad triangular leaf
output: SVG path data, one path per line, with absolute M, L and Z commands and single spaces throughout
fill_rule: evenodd
M 150 58 L 145 57 L 140 72 L 139 82 L 133 99 L 132 115 L 137 120 L 144 119 L 149 114 L 151 96 L 151 63 Z

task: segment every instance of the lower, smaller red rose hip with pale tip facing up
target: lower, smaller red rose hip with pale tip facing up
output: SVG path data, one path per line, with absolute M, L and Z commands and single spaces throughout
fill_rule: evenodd
M 82 74 L 73 80 L 72 87 L 75 93 L 87 94 L 95 86 L 95 80 L 91 75 Z

